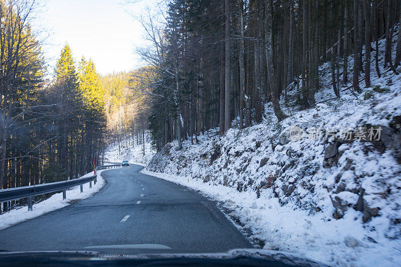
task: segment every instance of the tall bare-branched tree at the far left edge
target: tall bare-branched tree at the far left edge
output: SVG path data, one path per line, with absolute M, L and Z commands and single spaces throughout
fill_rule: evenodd
M 36 8 L 35 1 L 11 0 L 7 6 L 0 2 L 0 189 L 4 186 L 6 158 L 11 125 L 25 113 L 17 112 L 19 90 L 23 79 L 30 79 L 40 63 L 40 42 L 30 31 L 30 19 Z M 34 77 L 32 77 L 34 78 Z

